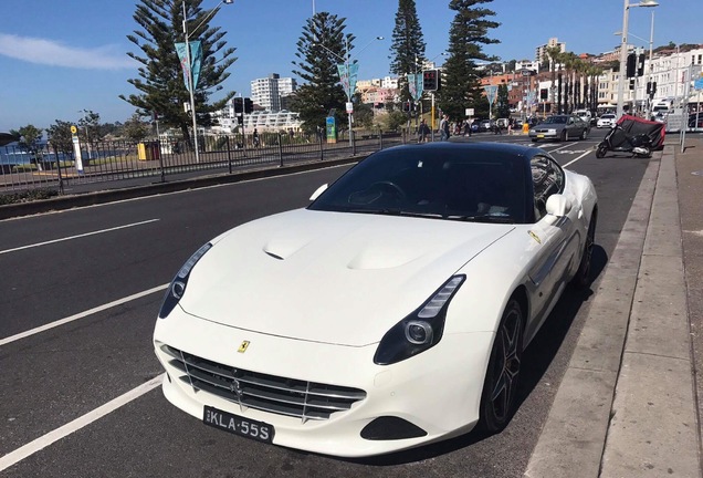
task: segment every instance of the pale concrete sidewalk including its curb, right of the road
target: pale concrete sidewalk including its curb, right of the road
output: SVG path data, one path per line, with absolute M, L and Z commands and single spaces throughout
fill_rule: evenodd
M 526 477 L 702 476 L 703 138 L 686 146 L 650 162 Z

